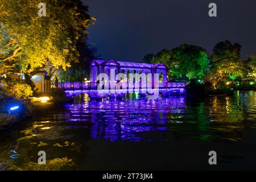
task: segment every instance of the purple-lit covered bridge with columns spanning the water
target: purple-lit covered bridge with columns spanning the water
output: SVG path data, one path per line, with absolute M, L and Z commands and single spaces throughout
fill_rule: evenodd
M 117 96 L 121 93 L 120 96 L 123 96 L 125 92 L 130 93 L 130 91 L 142 94 L 149 93 L 155 90 L 157 86 L 159 86 L 159 93 L 164 96 L 185 94 L 185 82 L 167 81 L 168 68 L 163 63 L 148 64 L 115 60 L 93 60 L 90 64 L 90 69 L 90 80 L 85 82 L 59 82 L 58 87 L 64 89 L 68 96 L 88 93 L 90 97 L 95 96 L 97 98 L 109 96 L 110 93 L 105 93 L 104 90 L 115 90 L 111 95 Z M 125 75 L 125 79 L 118 77 L 118 73 L 123 73 L 121 75 Z M 100 74 L 107 75 L 108 78 L 102 78 Z M 133 75 L 133 77 L 130 78 L 130 75 Z M 137 75 L 136 80 L 134 75 Z M 157 84 L 157 82 L 154 82 L 156 80 L 158 85 L 155 85 Z M 122 88 L 119 87 L 120 85 Z M 127 89 L 125 86 L 127 86 Z M 103 87 L 104 90 L 98 89 L 103 89 Z

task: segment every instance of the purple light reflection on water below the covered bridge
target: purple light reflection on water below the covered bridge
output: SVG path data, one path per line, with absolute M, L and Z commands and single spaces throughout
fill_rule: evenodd
M 123 98 L 123 100 L 90 100 L 88 95 L 66 105 L 70 122 L 88 122 L 93 139 L 138 141 L 145 132 L 168 130 L 170 113 L 185 113 L 185 97 L 172 96 L 147 100 Z M 75 125 L 75 123 L 74 123 Z

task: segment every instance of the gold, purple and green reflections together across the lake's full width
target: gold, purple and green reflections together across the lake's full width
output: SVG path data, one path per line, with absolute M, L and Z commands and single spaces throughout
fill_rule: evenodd
M 87 143 L 96 139 L 172 145 L 191 139 L 195 143 L 240 141 L 246 146 L 245 135 L 255 133 L 255 123 L 255 91 L 193 101 L 184 96 L 147 100 L 134 94 L 119 100 L 90 100 L 82 94 L 64 108 L 0 133 L 0 170 L 43 169 L 36 164 L 40 150 L 46 151 L 51 161 L 48 169 L 79 169 L 77 165 L 83 165 L 79 156 L 85 158 L 94 150 Z M 104 150 L 108 145 L 101 147 Z

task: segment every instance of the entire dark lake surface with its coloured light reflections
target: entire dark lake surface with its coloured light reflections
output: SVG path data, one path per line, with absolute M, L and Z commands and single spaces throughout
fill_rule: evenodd
M 2 170 L 256 169 L 256 92 L 203 100 L 83 94 L 1 131 L 0 142 Z M 47 165 L 37 164 L 39 151 Z

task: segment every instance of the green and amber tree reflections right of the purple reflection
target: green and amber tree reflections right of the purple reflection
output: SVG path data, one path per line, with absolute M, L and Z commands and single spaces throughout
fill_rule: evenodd
M 204 101 L 188 101 L 185 113 L 168 113 L 168 128 L 179 139 L 217 138 L 240 140 L 247 122 L 256 118 L 256 92 L 236 92 L 232 97 L 211 97 Z

